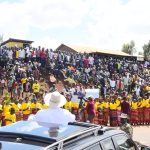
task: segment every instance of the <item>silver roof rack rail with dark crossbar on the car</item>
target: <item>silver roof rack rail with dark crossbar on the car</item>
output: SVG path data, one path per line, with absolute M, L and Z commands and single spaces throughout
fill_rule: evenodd
M 72 143 L 74 141 L 78 141 L 82 138 L 86 138 L 89 137 L 91 135 L 97 136 L 99 134 L 102 134 L 104 131 L 102 130 L 102 126 L 99 125 L 95 125 L 95 124 L 90 124 L 90 123 L 83 123 L 83 122 L 73 122 L 73 123 L 69 123 L 69 125 L 76 125 L 76 126 L 82 126 L 82 127 L 88 127 L 87 129 L 79 132 L 79 133 L 75 133 L 73 135 L 70 135 L 68 137 L 65 137 L 57 142 L 54 142 L 53 144 L 45 147 L 44 150 L 50 150 L 53 149 L 54 147 L 57 148 L 57 150 L 63 150 L 63 145 L 64 143 L 68 144 L 68 143 Z

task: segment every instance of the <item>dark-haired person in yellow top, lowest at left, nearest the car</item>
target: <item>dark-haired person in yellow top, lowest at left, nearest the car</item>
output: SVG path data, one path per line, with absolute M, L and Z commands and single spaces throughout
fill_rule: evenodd
M 10 112 L 7 112 L 5 115 L 5 123 L 6 125 L 12 124 L 16 122 L 16 114 L 15 114 L 15 109 L 10 108 Z

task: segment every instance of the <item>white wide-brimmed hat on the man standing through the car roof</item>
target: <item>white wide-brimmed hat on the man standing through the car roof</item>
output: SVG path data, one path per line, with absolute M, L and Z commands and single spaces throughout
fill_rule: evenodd
M 59 92 L 48 93 L 44 97 L 44 102 L 51 108 L 62 107 L 66 103 L 66 98 Z

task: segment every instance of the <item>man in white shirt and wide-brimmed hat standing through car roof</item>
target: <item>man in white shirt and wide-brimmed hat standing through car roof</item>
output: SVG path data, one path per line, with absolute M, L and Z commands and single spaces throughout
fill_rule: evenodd
M 75 121 L 75 115 L 66 109 L 60 108 L 65 105 L 66 98 L 59 92 L 55 91 L 47 94 L 44 101 L 49 105 L 49 108 L 38 111 L 34 117 L 39 125 L 53 128 L 66 126 L 69 122 Z

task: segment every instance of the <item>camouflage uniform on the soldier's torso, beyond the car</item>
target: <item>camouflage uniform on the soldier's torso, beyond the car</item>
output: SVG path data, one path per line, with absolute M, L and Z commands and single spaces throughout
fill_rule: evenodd
M 133 128 L 130 124 L 125 123 L 120 125 L 120 129 L 123 130 L 124 132 L 126 132 L 131 138 L 133 136 Z

